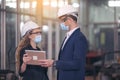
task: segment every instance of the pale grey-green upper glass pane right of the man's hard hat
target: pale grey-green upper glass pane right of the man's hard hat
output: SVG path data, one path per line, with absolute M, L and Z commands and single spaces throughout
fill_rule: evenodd
M 114 8 L 106 3 L 107 0 L 88 0 L 90 23 L 114 22 Z

